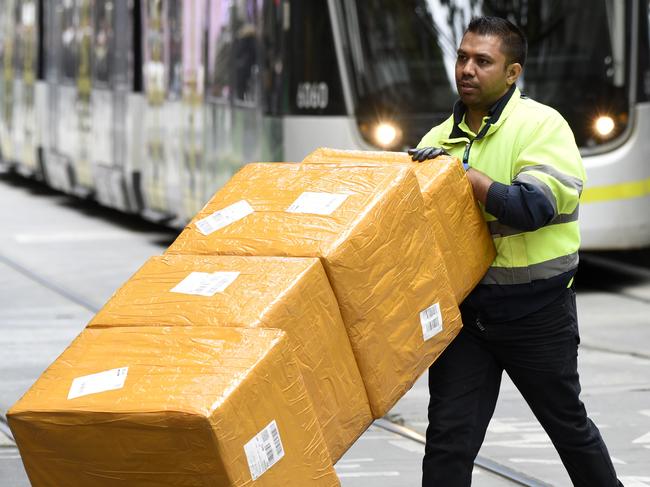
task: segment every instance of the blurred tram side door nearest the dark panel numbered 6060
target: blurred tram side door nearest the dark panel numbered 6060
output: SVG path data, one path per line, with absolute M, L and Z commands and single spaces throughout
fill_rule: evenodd
M 209 2 L 205 200 L 243 164 L 282 159 L 275 95 L 282 90 L 282 19 L 287 3 Z

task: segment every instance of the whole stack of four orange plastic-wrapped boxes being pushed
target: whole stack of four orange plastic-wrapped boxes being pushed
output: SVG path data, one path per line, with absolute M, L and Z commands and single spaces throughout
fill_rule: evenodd
M 468 187 L 394 153 L 246 166 L 11 409 L 32 484 L 338 485 L 489 266 Z

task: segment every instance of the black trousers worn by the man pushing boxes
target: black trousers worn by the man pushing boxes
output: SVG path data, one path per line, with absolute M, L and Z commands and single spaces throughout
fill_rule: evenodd
M 573 485 L 615 487 L 609 453 L 579 399 L 575 293 L 505 323 L 463 313 L 464 328 L 429 369 L 423 487 L 471 485 L 505 370 L 549 435 Z

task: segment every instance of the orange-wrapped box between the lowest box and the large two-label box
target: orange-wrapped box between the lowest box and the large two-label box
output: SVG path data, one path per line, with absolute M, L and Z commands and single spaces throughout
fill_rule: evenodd
M 338 303 L 316 258 L 152 257 L 89 326 L 136 323 L 285 331 L 334 462 L 372 422 Z

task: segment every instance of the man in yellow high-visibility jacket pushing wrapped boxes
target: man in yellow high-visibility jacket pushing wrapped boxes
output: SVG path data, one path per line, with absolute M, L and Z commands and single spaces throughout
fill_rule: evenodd
M 507 20 L 472 20 L 458 49 L 453 115 L 409 151 L 417 161 L 441 149 L 462 159 L 497 249 L 461 305 L 463 330 L 429 370 L 423 487 L 471 484 L 504 370 L 574 485 L 622 485 L 578 397 L 572 282 L 584 169 L 566 121 L 515 86 L 526 49 Z

